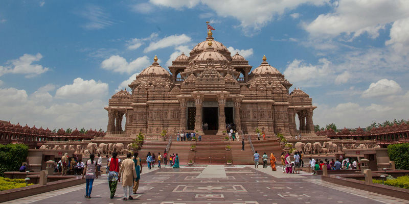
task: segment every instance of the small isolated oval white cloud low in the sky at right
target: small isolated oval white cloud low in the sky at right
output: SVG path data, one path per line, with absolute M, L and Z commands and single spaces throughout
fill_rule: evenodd
M 381 79 L 376 83 L 371 83 L 369 88 L 362 93 L 362 97 L 376 97 L 392 95 L 400 92 L 402 89 L 399 84 L 393 80 Z

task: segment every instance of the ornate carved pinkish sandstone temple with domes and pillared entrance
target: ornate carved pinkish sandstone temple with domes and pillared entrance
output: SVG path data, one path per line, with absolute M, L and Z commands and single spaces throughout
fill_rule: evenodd
M 262 58 L 252 66 L 214 40 L 211 30 L 189 56 L 172 61 L 169 71 L 157 62 L 145 68 L 126 89 L 109 99 L 107 133 L 126 135 L 197 131 L 221 135 L 226 123 L 237 131 L 285 136 L 314 132 L 312 99 L 294 89 Z M 296 125 L 296 115 L 299 128 Z M 125 116 L 125 126 L 122 120 Z M 207 123 L 206 130 L 203 124 Z

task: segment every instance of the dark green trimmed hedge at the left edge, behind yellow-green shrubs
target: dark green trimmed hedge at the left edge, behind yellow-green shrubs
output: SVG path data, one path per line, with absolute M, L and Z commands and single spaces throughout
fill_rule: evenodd
M 29 147 L 25 144 L 0 144 L 0 176 L 4 176 L 5 171 L 18 171 L 28 153 Z

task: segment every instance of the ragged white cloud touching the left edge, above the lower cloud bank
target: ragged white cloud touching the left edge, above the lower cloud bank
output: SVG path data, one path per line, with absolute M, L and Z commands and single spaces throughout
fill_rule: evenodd
M 33 62 L 38 62 L 42 58 L 40 53 L 37 55 L 24 54 L 15 60 L 7 61 L 6 66 L 0 66 L 0 76 L 6 73 L 15 73 L 15 74 L 26 74 L 26 78 L 32 78 L 36 75 L 44 73 L 49 70 L 48 67 L 43 67 L 38 64 L 32 64 Z

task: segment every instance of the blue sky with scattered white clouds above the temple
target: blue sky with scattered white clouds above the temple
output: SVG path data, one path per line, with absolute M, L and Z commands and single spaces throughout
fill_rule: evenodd
M 0 112 L 30 126 L 106 129 L 108 98 L 155 55 L 206 38 L 270 65 L 313 98 L 314 123 L 407 119 L 406 1 L 2 1 Z M 291 88 L 291 90 L 292 90 Z

